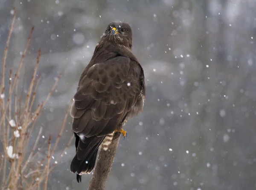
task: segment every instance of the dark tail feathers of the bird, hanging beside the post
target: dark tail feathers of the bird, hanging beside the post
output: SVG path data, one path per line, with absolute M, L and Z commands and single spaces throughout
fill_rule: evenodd
M 79 138 L 79 136 L 76 136 Z M 85 138 L 83 141 L 79 140 L 76 156 L 70 164 L 70 171 L 76 174 L 76 180 L 81 182 L 81 174 L 91 173 L 97 158 L 99 145 L 102 143 L 104 137 L 92 136 Z

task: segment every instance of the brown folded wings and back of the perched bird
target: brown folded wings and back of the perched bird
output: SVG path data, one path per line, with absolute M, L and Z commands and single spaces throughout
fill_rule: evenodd
M 142 74 L 139 63 L 122 56 L 91 66 L 79 82 L 70 110 L 73 131 L 87 138 L 105 136 L 126 116 L 141 112 Z

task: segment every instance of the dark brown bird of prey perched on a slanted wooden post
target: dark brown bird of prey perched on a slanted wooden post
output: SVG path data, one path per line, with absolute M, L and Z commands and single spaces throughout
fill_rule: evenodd
M 76 138 L 70 170 L 78 182 L 93 170 L 98 149 L 108 150 L 114 133 L 125 136 L 122 126 L 143 110 L 144 73 L 131 49 L 131 27 L 110 23 L 79 79 L 70 109 Z

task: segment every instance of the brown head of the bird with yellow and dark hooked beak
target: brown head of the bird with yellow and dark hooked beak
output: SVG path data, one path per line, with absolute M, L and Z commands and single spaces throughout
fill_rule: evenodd
M 124 45 L 130 50 L 132 48 L 132 31 L 127 23 L 110 23 L 102 38 L 118 45 Z

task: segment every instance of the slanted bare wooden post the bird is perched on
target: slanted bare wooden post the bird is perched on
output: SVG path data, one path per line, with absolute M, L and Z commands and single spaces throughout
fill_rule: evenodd
M 96 168 L 93 173 L 93 178 L 90 181 L 88 190 L 104 190 L 108 174 L 110 173 L 114 157 L 116 155 L 117 146 L 121 133 L 115 133 L 108 150 L 100 150 L 99 159 L 96 163 Z

